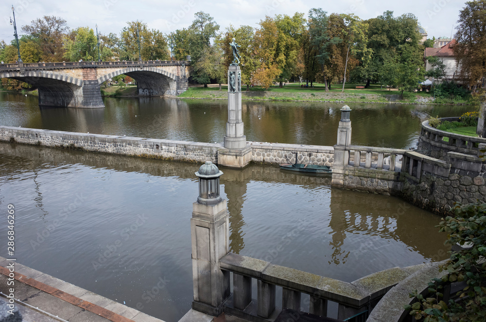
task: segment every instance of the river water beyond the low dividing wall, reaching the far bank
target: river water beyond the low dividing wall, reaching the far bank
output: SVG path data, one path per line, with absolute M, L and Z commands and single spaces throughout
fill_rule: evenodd
M 156 97 L 104 98 L 105 108 L 40 109 L 32 96 L 0 92 L 2 125 L 126 135 L 169 140 L 222 142 L 226 100 Z M 342 103 L 243 101 L 247 140 L 334 145 Z M 393 148 L 415 147 L 427 115 L 457 116 L 473 107 L 398 104 L 348 104 L 352 143 Z

